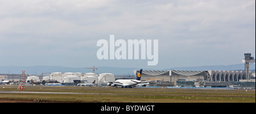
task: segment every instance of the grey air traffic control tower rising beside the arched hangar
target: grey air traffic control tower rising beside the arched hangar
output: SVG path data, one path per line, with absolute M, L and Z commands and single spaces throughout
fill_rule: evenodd
M 251 54 L 247 53 L 245 54 L 245 59 L 242 60 L 243 63 L 245 63 L 245 76 L 246 80 L 250 80 L 249 76 L 249 65 L 255 63 L 254 57 L 251 57 Z

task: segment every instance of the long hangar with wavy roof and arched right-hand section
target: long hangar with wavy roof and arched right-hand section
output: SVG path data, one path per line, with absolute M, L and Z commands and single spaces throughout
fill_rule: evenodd
M 137 75 L 139 71 L 134 70 Z M 249 72 L 250 77 L 253 72 Z M 141 80 L 169 81 L 176 85 L 177 80 L 185 81 L 228 81 L 238 82 L 246 79 L 245 71 L 142 71 Z

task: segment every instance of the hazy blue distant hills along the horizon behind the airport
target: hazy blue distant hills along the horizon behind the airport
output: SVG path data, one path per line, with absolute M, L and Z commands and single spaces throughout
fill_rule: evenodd
M 97 67 L 95 73 L 113 73 L 115 76 L 121 75 L 134 75 L 133 70 L 139 70 L 140 68 L 118 68 L 118 67 Z M 232 64 L 232 65 L 204 65 L 199 67 L 174 67 L 162 69 L 164 71 L 167 70 L 184 70 L 184 71 L 203 71 L 203 70 L 243 70 L 244 64 Z M 0 74 L 21 74 L 22 71 L 26 71 L 26 74 L 32 75 L 41 75 L 42 73 L 47 72 L 81 72 L 88 73 L 93 72 L 92 69 L 86 68 L 75 68 L 75 67 L 59 67 L 59 66 L 31 66 L 31 67 L 0 67 Z M 143 70 L 158 70 L 158 69 L 147 69 L 143 68 Z M 250 65 L 250 70 L 255 71 L 255 64 Z

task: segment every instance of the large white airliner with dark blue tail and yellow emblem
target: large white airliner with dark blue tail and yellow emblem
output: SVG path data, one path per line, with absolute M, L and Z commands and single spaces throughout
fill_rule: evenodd
M 125 88 L 132 88 L 132 87 L 139 86 L 139 85 L 142 85 L 142 86 L 149 85 L 148 82 L 150 82 L 150 81 L 141 81 L 141 74 L 142 74 L 142 69 L 139 70 L 138 76 L 135 77 L 135 80 L 119 79 L 114 82 L 108 82 L 107 85 L 112 86 L 112 87 L 122 86 Z

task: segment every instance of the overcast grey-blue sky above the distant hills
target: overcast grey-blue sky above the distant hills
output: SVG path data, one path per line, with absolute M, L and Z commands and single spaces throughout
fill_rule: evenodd
M 97 41 L 158 40 L 148 60 L 98 60 Z M 255 57 L 255 0 L 0 0 L 0 66 L 172 68 Z

